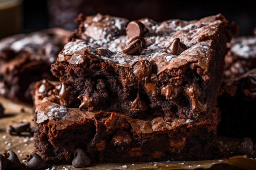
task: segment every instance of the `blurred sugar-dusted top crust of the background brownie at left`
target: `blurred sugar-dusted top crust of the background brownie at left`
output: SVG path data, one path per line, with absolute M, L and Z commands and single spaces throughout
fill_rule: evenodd
M 0 61 L 8 63 L 14 58 L 29 56 L 30 60 L 44 60 L 48 64 L 67 42 L 69 32 L 62 29 L 48 29 L 30 34 L 17 34 L 0 40 Z M 22 59 L 18 59 L 18 63 Z

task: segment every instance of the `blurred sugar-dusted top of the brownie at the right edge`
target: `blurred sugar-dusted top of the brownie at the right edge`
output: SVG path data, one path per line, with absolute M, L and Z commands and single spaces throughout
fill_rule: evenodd
M 233 55 L 243 59 L 256 58 L 256 36 L 233 38 L 230 46 Z

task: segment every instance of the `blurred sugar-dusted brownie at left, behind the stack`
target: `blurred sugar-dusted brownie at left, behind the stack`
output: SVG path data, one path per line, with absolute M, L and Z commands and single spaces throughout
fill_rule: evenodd
M 0 95 L 31 102 L 29 84 L 42 78 L 56 80 L 50 66 L 67 43 L 69 32 L 48 29 L 0 40 Z

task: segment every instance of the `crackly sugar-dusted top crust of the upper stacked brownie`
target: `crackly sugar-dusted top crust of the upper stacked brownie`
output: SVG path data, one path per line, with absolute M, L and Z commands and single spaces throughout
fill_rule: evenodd
M 227 20 L 221 14 L 199 21 L 171 19 L 155 22 L 143 18 L 133 21 L 133 26 L 131 22 L 128 24 L 127 19 L 101 14 L 80 17 L 78 20 L 81 25 L 73 33 L 72 41 L 59 54 L 59 62 L 67 60 L 70 64 L 81 64 L 84 62 L 83 54 L 124 67 L 131 67 L 139 60 L 148 60 L 156 63 L 158 73 L 167 68 L 179 68 L 188 62 L 207 69 L 214 51 L 213 46 L 218 43 L 222 34 L 222 26 L 227 26 Z M 132 42 L 133 47 L 127 47 L 124 51 L 128 44 L 132 44 L 129 41 L 136 34 L 145 39 L 144 44 L 141 41 L 144 48 L 141 51 L 136 49 L 136 43 L 140 46 L 140 41 L 137 40 Z M 232 31 L 227 31 L 228 36 L 232 34 Z M 170 48 L 182 49 L 179 46 L 181 43 L 186 47 L 178 54 L 174 54 L 172 49 L 167 50 L 175 38 L 179 38 L 180 42 L 175 44 L 176 47 Z

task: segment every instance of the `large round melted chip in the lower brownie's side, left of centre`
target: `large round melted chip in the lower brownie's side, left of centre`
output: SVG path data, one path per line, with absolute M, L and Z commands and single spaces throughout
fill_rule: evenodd
M 112 137 L 114 146 L 130 145 L 131 141 L 131 134 L 125 130 L 117 131 Z

